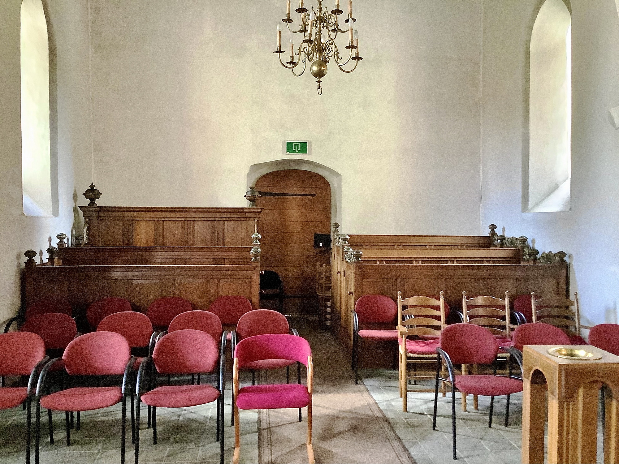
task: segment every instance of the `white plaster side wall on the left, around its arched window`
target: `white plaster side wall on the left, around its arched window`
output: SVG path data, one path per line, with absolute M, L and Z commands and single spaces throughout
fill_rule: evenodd
M 82 131 L 79 115 L 72 114 L 80 105 L 80 73 L 85 69 L 80 62 L 79 42 L 83 41 L 84 9 L 77 0 L 46 2 L 50 25 L 50 49 L 53 51 L 50 67 L 58 68 L 50 80 L 51 152 L 58 170 L 58 217 L 25 217 L 22 212 L 22 159 L 20 133 L 20 0 L 2 1 L 0 14 L 0 327 L 12 317 L 20 305 L 20 266 L 25 261 L 24 251 L 32 248 L 44 256 L 48 239 L 58 241 L 56 234 L 71 233 L 74 221 L 74 173 L 72 158 L 79 147 L 77 140 Z M 62 17 L 62 20 L 59 19 Z M 76 40 L 82 34 L 82 38 Z M 88 81 L 84 81 L 88 84 Z M 58 104 L 55 95 L 58 94 Z M 54 110 L 57 108 L 57 110 Z M 88 139 L 90 140 L 90 138 Z

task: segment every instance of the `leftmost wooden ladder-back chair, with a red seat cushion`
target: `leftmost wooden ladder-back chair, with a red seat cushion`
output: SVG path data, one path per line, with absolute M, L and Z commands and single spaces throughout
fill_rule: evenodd
M 413 380 L 413 384 L 417 384 L 418 379 L 435 378 L 434 369 L 430 369 L 428 372 L 417 371 L 417 364 L 430 363 L 432 367 L 435 366 L 436 347 L 439 345 L 438 337 L 440 337 L 444 327 L 445 300 L 442 291 L 439 299 L 428 296 L 411 296 L 403 299 L 402 292 L 397 292 L 400 397 L 402 397 L 402 410 L 404 412 L 408 410 L 407 393 L 409 391 L 434 391 L 433 389 L 409 390 L 408 385 L 409 380 Z M 411 368 L 412 372 L 410 371 Z

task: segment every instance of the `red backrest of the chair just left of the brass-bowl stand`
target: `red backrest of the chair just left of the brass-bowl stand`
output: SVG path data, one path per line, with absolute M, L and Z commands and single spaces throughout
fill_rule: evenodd
M 439 346 L 454 364 L 491 364 L 499 350 L 490 330 L 475 324 L 448 325 Z

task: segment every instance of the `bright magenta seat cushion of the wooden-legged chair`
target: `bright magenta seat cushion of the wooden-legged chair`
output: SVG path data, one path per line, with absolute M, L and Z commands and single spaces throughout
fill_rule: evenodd
M 311 397 L 305 385 L 250 385 L 238 390 L 240 409 L 305 408 Z

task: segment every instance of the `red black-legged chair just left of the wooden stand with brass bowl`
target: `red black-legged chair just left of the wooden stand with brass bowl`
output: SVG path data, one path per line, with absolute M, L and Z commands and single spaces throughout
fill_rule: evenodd
M 436 362 L 436 383 L 434 393 L 434 415 L 432 429 L 436 430 L 436 406 L 438 405 L 438 382 L 451 384 L 451 431 L 453 458 L 456 459 L 456 389 L 461 393 L 490 397 L 490 417 L 488 427 L 492 426 L 492 410 L 497 396 L 507 395 L 505 425 L 509 419 L 509 395 L 522 392 L 522 381 L 511 377 L 496 376 L 496 355 L 498 345 L 490 330 L 475 324 L 452 324 L 441 332 Z M 441 361 L 442 360 L 442 361 Z M 441 365 L 447 364 L 449 378 L 440 376 Z M 454 364 L 493 364 L 495 375 L 456 376 Z

